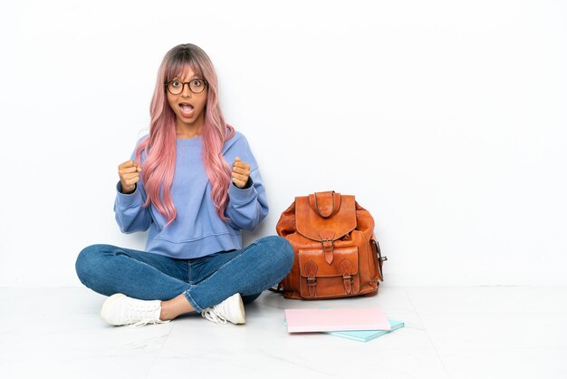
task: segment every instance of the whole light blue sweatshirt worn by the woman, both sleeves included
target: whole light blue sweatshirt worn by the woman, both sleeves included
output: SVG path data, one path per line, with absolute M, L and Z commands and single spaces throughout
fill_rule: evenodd
M 139 142 L 143 140 L 140 139 Z M 138 147 L 137 144 L 137 147 Z M 171 198 L 176 206 L 176 219 L 167 220 L 152 204 L 142 208 L 147 199 L 141 175 L 136 190 L 122 193 L 117 184 L 114 212 L 123 233 L 145 231 L 149 228 L 146 251 L 171 258 L 199 258 L 218 251 L 242 248 L 242 229 L 254 230 L 268 213 L 264 184 L 258 164 L 250 151 L 245 136 L 235 132 L 225 142 L 223 156 L 230 167 L 235 157 L 250 165 L 252 186 L 239 189 L 231 182 L 225 222 L 216 214 L 211 199 L 211 183 L 203 163 L 203 137 L 177 140 L 176 169 L 171 185 Z M 141 162 L 145 160 L 142 152 Z M 135 150 L 132 152 L 135 158 Z

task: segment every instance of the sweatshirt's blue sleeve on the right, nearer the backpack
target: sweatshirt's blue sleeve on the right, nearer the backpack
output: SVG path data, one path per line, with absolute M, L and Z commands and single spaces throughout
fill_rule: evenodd
M 264 182 L 258 170 L 255 157 L 248 146 L 244 135 L 236 132 L 233 143 L 229 144 L 225 151 L 225 159 L 229 167 L 235 157 L 239 157 L 250 165 L 250 187 L 239 189 L 231 181 L 228 188 L 228 204 L 226 205 L 226 217 L 232 221 L 237 228 L 253 231 L 268 214 L 268 203 L 266 199 Z

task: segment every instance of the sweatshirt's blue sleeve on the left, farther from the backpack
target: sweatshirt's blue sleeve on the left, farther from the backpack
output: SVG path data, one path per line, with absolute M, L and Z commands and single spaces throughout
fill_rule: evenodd
M 136 160 L 135 153 L 136 150 L 134 149 L 130 157 L 131 160 Z M 118 181 L 116 184 L 114 215 L 122 233 L 148 230 L 152 219 L 149 207 L 142 208 L 145 201 L 146 192 L 141 183 L 141 174 L 138 183 L 136 183 L 136 190 L 130 194 L 122 193 L 122 185 L 120 180 Z

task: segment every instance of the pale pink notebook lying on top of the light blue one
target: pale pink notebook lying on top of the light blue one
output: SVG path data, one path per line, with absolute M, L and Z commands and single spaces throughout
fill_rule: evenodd
M 284 309 L 288 333 L 391 330 L 378 308 Z

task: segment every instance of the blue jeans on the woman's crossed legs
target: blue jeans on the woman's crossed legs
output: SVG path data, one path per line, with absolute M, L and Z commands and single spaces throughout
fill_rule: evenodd
M 82 249 L 75 268 L 82 284 L 102 295 L 169 300 L 183 294 L 201 312 L 235 293 L 245 304 L 254 301 L 283 279 L 292 265 L 292 246 L 284 238 L 271 236 L 246 248 L 195 259 L 91 245 Z

